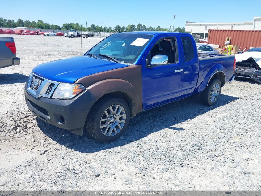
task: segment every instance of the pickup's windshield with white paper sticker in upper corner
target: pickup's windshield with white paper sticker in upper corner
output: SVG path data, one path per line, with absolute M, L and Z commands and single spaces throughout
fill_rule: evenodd
M 109 55 L 118 59 L 119 62 L 133 64 L 152 37 L 147 34 L 115 33 L 101 41 L 88 53 L 101 59 L 108 58 L 99 54 Z

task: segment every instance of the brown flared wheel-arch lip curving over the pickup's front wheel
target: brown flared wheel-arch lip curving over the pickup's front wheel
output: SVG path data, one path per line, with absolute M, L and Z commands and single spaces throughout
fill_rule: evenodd
M 138 90 L 128 81 L 122 79 L 106 79 L 89 86 L 87 90 L 93 95 L 97 101 L 103 95 L 113 92 L 122 92 L 133 99 L 135 111 L 142 109 L 142 98 Z

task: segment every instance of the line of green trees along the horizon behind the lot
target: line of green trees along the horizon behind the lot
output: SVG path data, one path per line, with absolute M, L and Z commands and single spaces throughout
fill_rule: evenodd
M 146 27 L 146 25 L 137 24 L 135 26 L 134 24 L 128 24 L 127 26 L 123 25 L 116 25 L 114 28 L 112 27 L 106 27 L 106 26 L 99 26 L 95 24 L 91 24 L 89 27 L 84 27 L 83 25 L 79 25 L 78 23 L 64 23 L 62 27 L 56 24 L 49 24 L 44 23 L 42 20 L 30 21 L 22 19 L 18 19 L 17 22 L 14 20 L 7 20 L 0 18 L 0 27 L 32 27 L 32 28 L 39 28 L 39 29 L 56 29 L 56 30 L 70 30 L 70 29 L 78 29 L 79 31 L 100 31 L 100 32 L 128 32 L 128 31 L 170 31 L 169 28 L 163 28 L 160 26 L 157 27 Z M 185 32 L 185 28 L 177 27 L 175 28 L 174 32 Z

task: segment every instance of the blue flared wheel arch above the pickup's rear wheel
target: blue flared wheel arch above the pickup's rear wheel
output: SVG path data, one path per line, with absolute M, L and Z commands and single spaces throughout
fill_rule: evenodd
M 224 76 L 224 79 L 226 78 L 226 76 L 225 76 L 226 69 L 221 64 L 215 64 L 210 69 L 204 70 L 204 72 L 203 72 L 204 78 L 202 79 L 202 82 L 200 83 L 200 85 L 198 86 L 198 88 L 196 90 L 198 93 L 202 92 L 204 89 L 207 88 L 209 81 L 216 73 L 221 72 Z

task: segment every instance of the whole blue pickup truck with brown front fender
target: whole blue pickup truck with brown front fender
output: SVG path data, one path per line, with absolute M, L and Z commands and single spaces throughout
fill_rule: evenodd
M 193 94 L 214 105 L 234 68 L 234 55 L 198 54 L 188 33 L 116 33 L 83 56 L 36 66 L 25 100 L 50 124 L 111 142 L 141 111 Z

